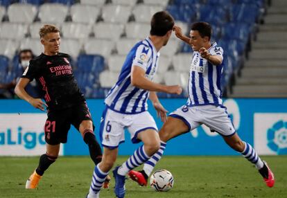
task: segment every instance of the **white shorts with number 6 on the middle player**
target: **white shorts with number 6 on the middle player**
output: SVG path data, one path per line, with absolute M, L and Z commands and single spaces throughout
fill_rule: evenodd
M 157 125 L 148 111 L 139 114 L 121 114 L 106 107 L 101 118 L 100 137 L 104 147 L 114 149 L 125 141 L 125 129 L 130 132 L 132 143 L 139 143 L 137 134 L 146 129 L 155 129 Z

